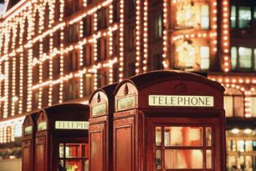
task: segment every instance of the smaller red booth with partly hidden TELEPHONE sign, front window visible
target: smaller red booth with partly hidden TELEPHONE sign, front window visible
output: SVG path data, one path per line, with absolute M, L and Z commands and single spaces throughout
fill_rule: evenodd
M 88 171 L 89 106 L 62 104 L 39 111 L 35 171 Z

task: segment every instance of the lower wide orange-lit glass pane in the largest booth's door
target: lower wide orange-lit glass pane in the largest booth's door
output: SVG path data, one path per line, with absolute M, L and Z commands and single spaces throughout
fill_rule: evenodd
M 203 169 L 203 151 L 165 150 L 165 169 Z

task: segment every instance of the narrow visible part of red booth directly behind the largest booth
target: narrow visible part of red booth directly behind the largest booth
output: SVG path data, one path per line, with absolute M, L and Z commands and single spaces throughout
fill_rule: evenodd
M 113 91 L 117 83 L 96 90 L 89 100 L 89 168 L 94 171 L 113 171 Z

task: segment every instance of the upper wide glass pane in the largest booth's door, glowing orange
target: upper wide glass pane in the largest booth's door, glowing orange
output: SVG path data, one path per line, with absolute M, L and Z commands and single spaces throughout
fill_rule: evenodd
M 202 127 L 165 127 L 165 146 L 203 146 Z

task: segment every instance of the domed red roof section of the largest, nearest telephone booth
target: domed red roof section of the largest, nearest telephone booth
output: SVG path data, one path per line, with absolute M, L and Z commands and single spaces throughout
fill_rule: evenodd
M 171 96 L 190 96 L 188 98 L 209 96 L 213 99 L 211 108 L 223 109 L 224 91 L 224 87 L 222 87 L 222 85 L 219 84 L 217 81 L 211 81 L 210 79 L 207 79 L 206 77 L 200 76 L 195 73 L 189 73 L 185 71 L 151 71 L 148 73 L 140 74 L 138 76 L 132 76 L 129 79 L 125 79 L 118 84 L 116 90 L 114 91 L 115 110 L 124 111 L 129 109 L 127 108 L 126 103 L 128 102 L 129 104 L 132 104 L 133 102 L 132 99 L 125 99 L 124 97 L 126 96 L 134 97 L 133 99 L 135 102 L 133 103 L 134 105 L 132 106 L 132 108 L 166 107 L 165 105 L 149 105 L 149 98 L 152 98 L 152 95 L 162 96 L 160 97 L 161 100 L 162 98 L 173 98 L 172 100 L 175 100 L 175 98 L 177 98 Z M 157 99 L 159 98 L 159 96 L 153 98 Z M 120 110 L 118 109 L 118 100 L 120 101 Z M 125 106 L 124 110 L 122 106 Z M 179 108 L 181 106 L 172 107 Z

